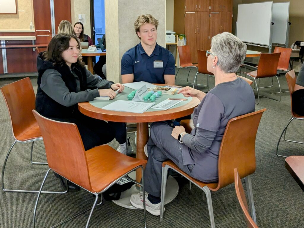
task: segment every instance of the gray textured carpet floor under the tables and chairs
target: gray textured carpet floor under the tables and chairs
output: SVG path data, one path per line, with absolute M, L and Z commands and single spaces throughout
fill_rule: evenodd
M 188 70 L 181 69 L 176 84 L 187 85 Z M 193 81 L 195 70 L 191 70 L 189 81 Z M 0 79 L 0 86 L 18 80 Z M 36 77 L 31 81 L 36 91 Z M 287 90 L 285 76 L 279 78 L 282 90 Z M 206 75 L 199 75 L 199 83 L 206 82 Z M 261 85 L 270 83 L 271 79 L 261 80 Z M 210 79 L 211 88 L 214 79 Z M 206 91 L 206 87 L 199 87 Z M 278 89 L 275 81 L 275 89 Z M 268 89 L 261 94 L 269 95 Z M 255 91 L 256 93 L 256 91 Z M 278 94 L 272 95 L 278 97 Z M 257 169 L 252 175 L 254 204 L 259 227 L 304 227 L 303 203 L 304 194 L 284 166 L 284 159 L 275 155 L 278 138 L 290 119 L 290 96 L 282 94 L 280 102 L 260 98 L 256 110 L 266 108 L 257 132 L 256 160 Z M 294 120 L 287 135 L 297 140 L 304 140 L 304 122 Z M 133 148 L 134 133 L 130 133 Z M 0 96 L 0 167 L 2 168 L 9 147 L 14 142 L 11 123 L 4 99 Z M 116 141 L 109 143 L 117 148 Z M 12 150 L 7 162 L 4 183 L 7 188 L 39 189 L 46 165 L 31 165 L 29 152 L 31 143 L 18 143 Z M 279 152 L 285 155 L 304 155 L 304 145 L 282 142 Z M 241 151 L 240 151 L 241 153 Z M 46 161 L 42 141 L 34 144 L 34 160 Z M 159 217 L 147 213 L 147 227 L 210 227 L 206 200 L 202 200 L 202 192 L 192 185 L 189 191 L 188 181 L 180 178 L 179 194 L 166 205 L 163 222 Z M 59 181 L 51 174 L 44 189 L 62 190 Z M 0 227 L 32 227 L 33 209 L 36 194 L 11 193 L 0 190 Z M 36 227 L 50 227 L 74 215 L 76 212 L 91 206 L 92 194 L 81 190 L 64 195 L 42 194 L 36 216 Z M 229 185 L 218 192 L 212 192 L 212 203 L 216 227 L 246 227 L 243 213 L 237 201 L 234 185 Z M 89 212 L 65 223 L 60 227 L 85 227 Z M 143 211 L 131 210 L 105 201 L 95 208 L 90 227 L 144 227 Z

